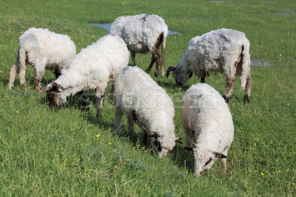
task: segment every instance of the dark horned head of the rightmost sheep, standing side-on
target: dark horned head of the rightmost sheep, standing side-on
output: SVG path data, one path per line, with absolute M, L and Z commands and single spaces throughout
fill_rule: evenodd
M 173 77 L 175 77 L 176 79 L 176 85 L 178 87 L 180 86 L 183 86 L 185 84 L 185 82 L 192 77 L 192 72 L 189 70 L 189 71 L 185 71 L 183 69 L 182 66 L 176 66 L 176 67 L 173 67 L 173 66 L 169 66 L 167 71 L 166 71 L 166 77 L 169 76 L 170 72 L 173 71 Z

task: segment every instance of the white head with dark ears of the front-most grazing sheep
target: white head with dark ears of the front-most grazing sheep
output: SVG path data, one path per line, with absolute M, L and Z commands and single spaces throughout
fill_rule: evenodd
M 194 147 L 184 147 L 185 150 L 191 151 L 194 159 L 194 175 L 200 176 L 203 170 L 213 166 L 215 158 L 226 158 L 222 153 L 198 148 L 195 143 Z

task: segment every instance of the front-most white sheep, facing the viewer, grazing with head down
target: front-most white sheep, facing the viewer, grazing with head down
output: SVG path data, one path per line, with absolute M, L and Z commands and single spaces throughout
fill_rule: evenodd
M 206 83 L 192 85 L 183 97 L 182 121 L 185 149 L 193 153 L 194 174 L 199 176 L 211 168 L 217 157 L 225 169 L 234 128 L 228 105 L 219 92 Z M 194 147 L 189 147 L 191 143 Z

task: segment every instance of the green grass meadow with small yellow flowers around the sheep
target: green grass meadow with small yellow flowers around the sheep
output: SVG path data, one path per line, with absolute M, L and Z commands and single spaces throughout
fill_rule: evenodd
M 165 68 L 179 63 L 192 37 L 222 27 L 246 33 L 251 59 L 271 63 L 251 66 L 248 104 L 237 77 L 228 103 L 235 134 L 225 172 L 216 161 L 199 178 L 193 176 L 184 144 L 159 159 L 141 145 L 137 126 L 135 136 L 127 133 L 126 117 L 121 122 L 125 136 L 119 138 L 113 134 L 111 99 L 104 100 L 101 120 L 95 119 L 95 105 L 88 112 L 79 109 L 78 96 L 50 110 L 35 91 L 31 67 L 27 86 L 20 87 L 17 75 L 14 90 L 7 89 L 18 37 L 30 27 L 67 33 L 78 53 L 107 32 L 88 21 L 111 23 L 141 13 L 162 16 L 170 30 L 183 33 L 168 36 Z M 1 0 L 0 196 L 296 196 L 295 30 L 294 0 Z M 150 54 L 136 56 L 143 69 L 149 61 Z M 175 104 L 176 136 L 185 139 L 182 98 L 199 80 L 192 77 L 179 89 L 172 77 L 155 78 L 153 72 Z M 42 83 L 54 79 L 46 71 Z M 223 94 L 223 74 L 211 73 L 206 82 Z

